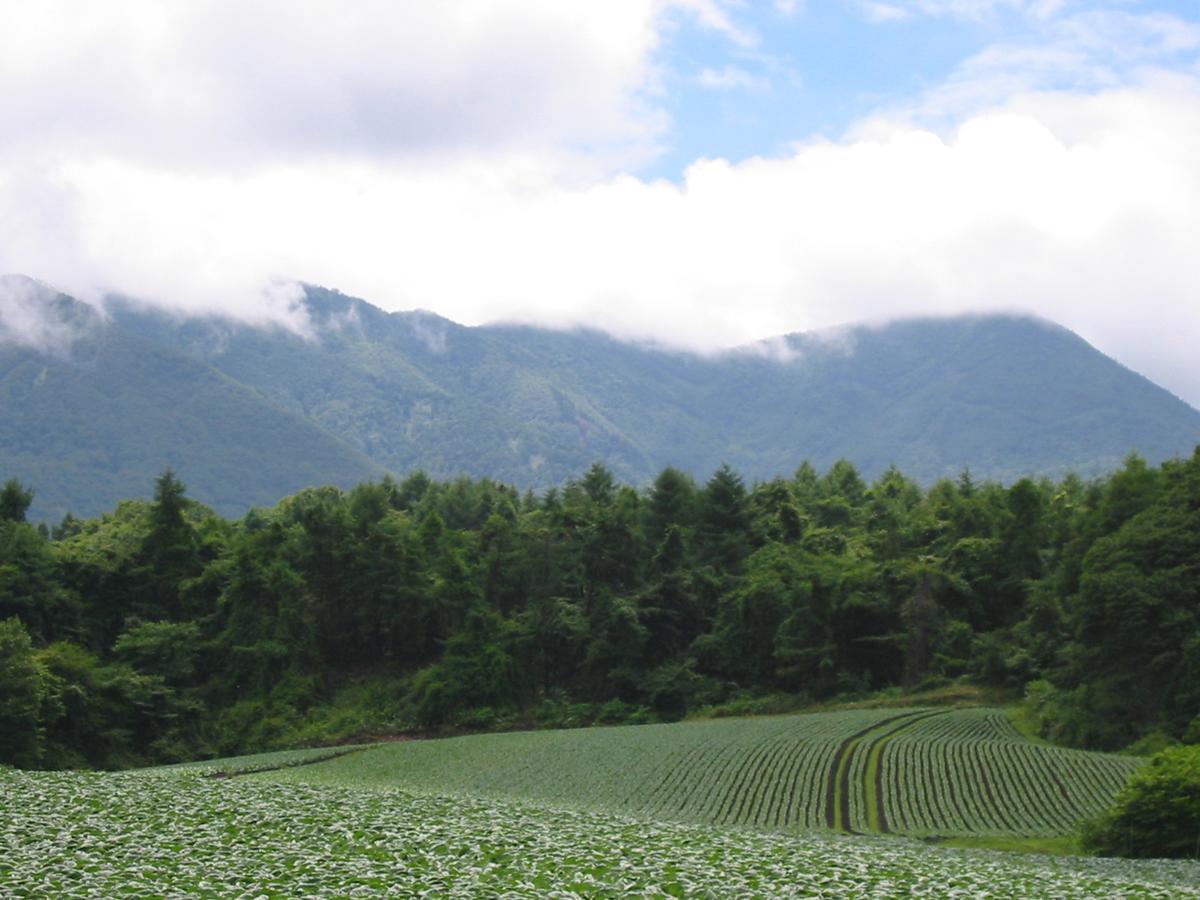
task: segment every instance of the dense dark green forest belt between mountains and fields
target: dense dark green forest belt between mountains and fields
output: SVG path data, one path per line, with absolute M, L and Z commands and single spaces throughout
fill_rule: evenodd
M 749 487 L 665 469 L 641 492 L 595 464 L 541 496 L 418 473 L 235 522 L 167 472 L 152 502 L 52 533 L 0 521 L 0 691 L 25 724 L 4 760 L 671 720 L 954 679 L 1026 692 L 1068 744 L 1169 742 L 1200 728 L 1198 548 L 1200 452 L 929 490 L 845 461 Z

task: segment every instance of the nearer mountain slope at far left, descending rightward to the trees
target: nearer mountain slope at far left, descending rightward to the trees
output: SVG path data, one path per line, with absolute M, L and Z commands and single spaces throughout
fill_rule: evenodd
M 204 362 L 53 299 L 73 340 L 0 343 L 0 473 L 35 488 L 31 518 L 96 515 L 173 467 L 221 512 L 383 469 L 314 422 Z

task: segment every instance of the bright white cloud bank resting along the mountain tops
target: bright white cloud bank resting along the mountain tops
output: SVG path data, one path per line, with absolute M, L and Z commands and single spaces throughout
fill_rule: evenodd
M 262 284 L 287 276 L 466 323 L 590 324 L 692 348 L 1021 308 L 1200 401 L 1195 82 L 1031 95 L 948 138 L 894 122 L 864 133 L 701 161 L 678 186 L 469 163 L 236 178 L 76 164 L 66 193 L 48 188 L 50 205 L 73 198 L 76 246 L 37 274 L 257 316 Z M 19 262 L 2 250 L 14 236 L 0 233 L 0 268 Z

